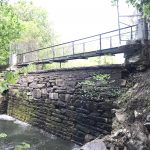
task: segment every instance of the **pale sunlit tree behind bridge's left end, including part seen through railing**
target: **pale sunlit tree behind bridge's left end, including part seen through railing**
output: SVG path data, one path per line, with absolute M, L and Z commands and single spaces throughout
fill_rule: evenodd
M 29 52 L 56 44 L 52 23 L 48 12 L 33 3 L 33 0 L 18 0 L 13 4 L 15 13 L 21 20 L 21 37 L 12 43 L 11 49 L 17 53 Z M 26 55 L 26 61 L 37 61 L 50 57 L 50 50 L 36 51 Z

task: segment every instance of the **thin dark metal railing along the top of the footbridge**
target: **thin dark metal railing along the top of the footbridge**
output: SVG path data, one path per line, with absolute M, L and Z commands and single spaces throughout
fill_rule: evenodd
M 55 58 L 70 57 L 91 51 L 111 49 L 126 45 L 127 41 L 136 39 L 136 26 L 121 28 L 86 38 L 36 49 L 17 54 L 17 64 L 52 61 Z M 120 35 L 119 35 L 120 33 Z M 119 40 L 121 38 L 121 41 Z

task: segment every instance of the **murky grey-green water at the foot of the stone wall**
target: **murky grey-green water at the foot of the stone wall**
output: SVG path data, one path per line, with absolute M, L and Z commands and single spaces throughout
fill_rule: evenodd
M 0 138 L 0 150 L 14 150 L 22 142 L 30 144 L 30 150 L 72 150 L 77 147 L 7 115 L 0 115 L 0 133 L 7 134 L 6 138 Z

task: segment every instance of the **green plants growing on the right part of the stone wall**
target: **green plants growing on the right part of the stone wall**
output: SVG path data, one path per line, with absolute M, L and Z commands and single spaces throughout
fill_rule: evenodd
M 111 88 L 110 77 L 110 74 L 93 74 L 90 78 L 78 83 L 82 88 L 80 95 L 87 100 L 101 99 L 103 94 L 111 98 L 118 97 L 120 91 L 118 88 Z

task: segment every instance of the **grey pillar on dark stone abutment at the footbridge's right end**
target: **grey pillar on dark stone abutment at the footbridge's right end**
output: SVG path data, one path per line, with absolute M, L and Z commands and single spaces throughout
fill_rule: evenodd
M 139 19 L 136 33 L 136 38 L 138 40 L 135 41 L 135 43 L 139 43 L 141 47 L 136 50 L 125 51 L 126 66 L 150 66 L 150 42 L 148 31 L 148 23 L 145 18 Z

